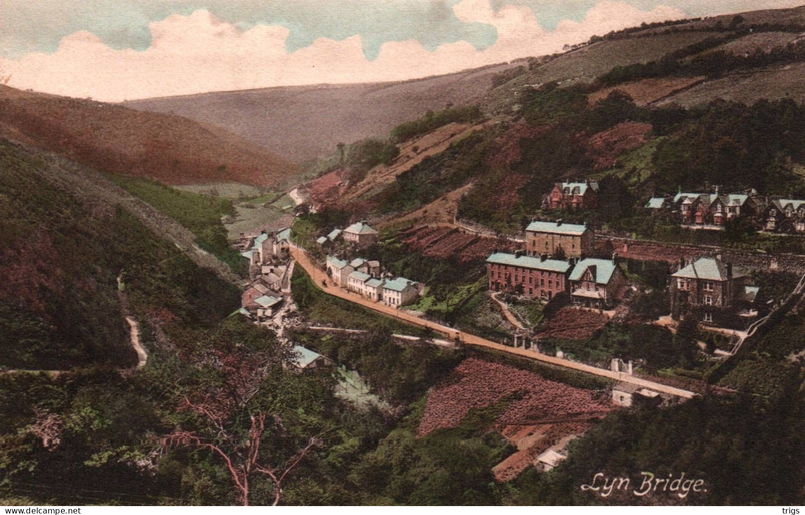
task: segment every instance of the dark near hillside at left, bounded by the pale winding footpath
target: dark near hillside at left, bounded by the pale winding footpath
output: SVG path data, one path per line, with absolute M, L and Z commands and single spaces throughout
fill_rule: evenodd
M 233 285 L 143 225 L 147 212 L 76 175 L 0 140 L 0 368 L 134 365 L 125 315 L 205 325 L 237 306 Z

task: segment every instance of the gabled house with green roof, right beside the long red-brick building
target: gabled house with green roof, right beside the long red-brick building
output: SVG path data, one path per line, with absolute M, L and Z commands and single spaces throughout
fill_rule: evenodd
M 626 277 L 614 259 L 582 259 L 570 273 L 570 295 L 577 306 L 611 307 L 625 286 Z

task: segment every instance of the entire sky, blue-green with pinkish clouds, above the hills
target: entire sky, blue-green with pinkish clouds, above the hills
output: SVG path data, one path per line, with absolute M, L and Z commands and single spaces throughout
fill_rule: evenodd
M 2 0 L 0 76 L 102 101 L 403 80 L 803 0 Z

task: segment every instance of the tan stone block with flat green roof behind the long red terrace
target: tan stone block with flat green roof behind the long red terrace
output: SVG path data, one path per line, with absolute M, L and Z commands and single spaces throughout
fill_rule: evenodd
M 586 224 L 534 221 L 526 228 L 526 252 L 529 256 L 582 258 L 592 253 L 593 237 Z

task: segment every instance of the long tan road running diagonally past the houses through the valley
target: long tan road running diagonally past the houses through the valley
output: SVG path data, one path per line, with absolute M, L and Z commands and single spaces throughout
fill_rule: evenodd
M 324 291 L 325 293 L 328 293 L 329 295 L 349 300 L 349 302 L 352 303 L 360 304 L 361 306 L 367 307 L 373 311 L 378 311 L 383 315 L 392 316 L 394 318 L 401 319 L 407 323 L 413 323 L 423 328 L 431 328 L 436 332 L 440 332 L 444 335 L 447 335 L 449 338 L 459 340 L 464 344 L 476 345 L 478 347 L 491 348 L 496 351 L 507 352 L 509 354 L 514 354 L 517 356 L 524 356 L 532 360 L 543 361 L 545 363 L 549 363 L 551 365 L 557 365 L 560 367 L 564 367 L 566 369 L 573 369 L 578 370 L 580 372 L 592 373 L 594 375 L 600 377 L 606 377 L 608 379 L 613 379 L 615 381 L 623 381 L 633 385 L 643 386 L 645 388 L 650 388 L 662 393 L 669 393 L 671 395 L 675 395 L 681 398 L 692 398 L 694 395 L 696 395 L 696 393 L 693 393 L 686 389 L 675 388 L 673 386 L 663 385 L 660 383 L 656 383 L 654 381 L 647 381 L 646 379 L 630 376 L 625 373 L 618 373 L 618 372 L 612 372 L 611 370 L 599 369 L 591 365 L 584 365 L 584 363 L 577 363 L 576 361 L 568 361 L 555 356 L 548 356 L 547 354 L 540 354 L 539 352 L 526 350 L 524 348 L 514 348 L 502 344 L 497 344 L 493 341 L 485 340 L 484 338 L 475 336 L 468 332 L 461 332 L 453 328 L 448 328 L 440 323 L 432 322 L 431 320 L 411 315 L 407 311 L 397 310 L 394 309 L 393 307 L 388 307 L 385 304 L 381 303 L 374 303 L 369 299 L 361 297 L 361 295 L 349 293 L 347 290 L 342 290 L 341 288 L 332 284 L 331 281 L 326 279 L 327 274 L 325 274 L 324 271 L 316 268 L 316 266 L 313 264 L 310 258 L 308 258 L 307 253 L 303 251 L 303 249 L 300 249 L 296 245 L 291 245 L 290 249 L 293 258 L 295 258 L 296 262 L 299 263 L 299 266 L 302 266 L 302 268 L 308 272 L 308 274 L 312 278 L 313 284 L 316 285 L 317 288 Z M 323 279 L 327 281 L 328 285 L 327 287 L 323 287 L 321 285 L 321 281 Z

